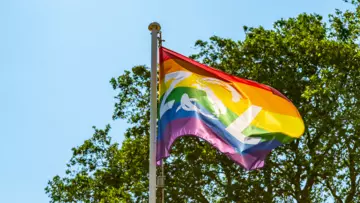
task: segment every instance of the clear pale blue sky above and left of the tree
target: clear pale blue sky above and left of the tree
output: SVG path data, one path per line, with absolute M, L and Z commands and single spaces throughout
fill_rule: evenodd
M 327 16 L 341 0 L 1 0 L 0 202 L 49 202 L 47 181 L 63 175 L 71 148 L 112 121 L 109 80 L 150 64 L 148 25 L 184 55 L 212 35 L 240 40 L 243 25 L 270 28 L 299 13 Z

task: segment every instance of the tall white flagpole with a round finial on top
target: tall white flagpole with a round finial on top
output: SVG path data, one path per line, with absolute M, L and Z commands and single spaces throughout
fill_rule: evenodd
M 156 117 L 157 117 L 157 50 L 160 24 L 149 25 L 151 31 L 151 84 L 150 84 L 150 148 L 149 148 L 149 203 L 156 203 Z

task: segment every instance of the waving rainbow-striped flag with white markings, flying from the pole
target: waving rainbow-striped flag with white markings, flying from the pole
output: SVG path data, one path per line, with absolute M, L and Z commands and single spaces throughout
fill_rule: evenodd
M 181 136 L 210 143 L 247 170 L 299 138 L 297 108 L 272 87 L 238 78 L 160 48 L 157 163 Z

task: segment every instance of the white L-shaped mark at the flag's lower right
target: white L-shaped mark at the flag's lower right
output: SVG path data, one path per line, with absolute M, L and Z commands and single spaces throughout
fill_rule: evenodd
M 226 131 L 228 131 L 232 136 L 244 144 L 259 143 L 261 138 L 247 137 L 242 133 L 242 131 L 251 124 L 260 111 L 261 107 L 251 105 L 243 114 L 236 118 L 236 120 L 226 128 Z

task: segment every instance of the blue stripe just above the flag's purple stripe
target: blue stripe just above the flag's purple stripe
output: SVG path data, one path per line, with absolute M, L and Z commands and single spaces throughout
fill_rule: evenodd
M 179 111 L 176 112 L 176 109 L 179 107 L 179 105 L 180 105 L 179 102 L 174 103 L 173 107 L 170 110 L 168 110 L 158 121 L 159 124 L 158 140 L 160 140 L 163 137 L 165 128 L 169 124 L 169 122 L 181 118 L 197 118 L 202 120 L 215 134 L 217 134 L 220 138 L 222 138 L 222 140 L 224 140 L 226 143 L 232 146 L 239 154 L 248 154 L 258 150 L 272 150 L 282 145 L 282 143 L 276 139 L 260 142 L 255 145 L 244 144 L 238 139 L 236 139 L 234 136 L 232 136 L 228 131 L 226 131 L 225 130 L 226 126 L 224 126 L 224 124 L 221 123 L 218 119 L 211 119 L 195 111 L 185 111 L 183 109 L 179 109 Z M 205 114 L 210 115 L 210 113 L 201 105 L 196 103 L 196 106 L 200 108 L 201 111 L 204 112 Z

